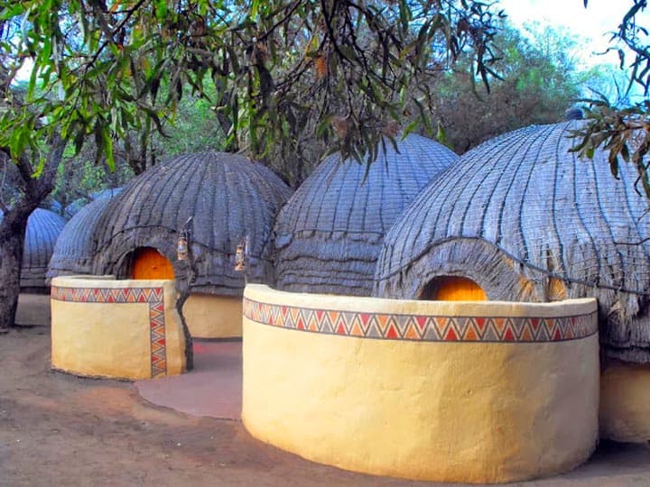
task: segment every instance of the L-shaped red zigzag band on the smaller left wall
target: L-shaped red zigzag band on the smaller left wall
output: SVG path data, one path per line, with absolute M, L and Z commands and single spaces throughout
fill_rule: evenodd
M 147 303 L 151 336 L 152 378 L 167 373 L 163 288 L 60 288 L 51 287 L 51 299 L 75 303 Z

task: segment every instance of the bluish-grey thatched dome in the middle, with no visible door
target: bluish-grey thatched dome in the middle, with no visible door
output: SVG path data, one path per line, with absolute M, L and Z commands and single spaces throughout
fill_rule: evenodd
M 334 154 L 283 207 L 275 224 L 276 286 L 292 291 L 369 295 L 385 232 L 430 179 L 458 156 L 408 135 L 399 152 L 385 143 L 369 170 Z

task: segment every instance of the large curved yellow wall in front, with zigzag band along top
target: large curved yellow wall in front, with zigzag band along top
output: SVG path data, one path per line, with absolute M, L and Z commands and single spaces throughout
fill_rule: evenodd
M 598 442 L 593 299 L 400 301 L 276 291 L 244 299 L 248 431 L 348 470 L 514 482 Z

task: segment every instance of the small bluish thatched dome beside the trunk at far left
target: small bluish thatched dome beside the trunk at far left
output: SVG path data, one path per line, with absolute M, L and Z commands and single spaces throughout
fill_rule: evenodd
M 21 288 L 45 288 L 48 262 L 65 220 L 56 213 L 36 208 L 27 220 L 23 247 Z

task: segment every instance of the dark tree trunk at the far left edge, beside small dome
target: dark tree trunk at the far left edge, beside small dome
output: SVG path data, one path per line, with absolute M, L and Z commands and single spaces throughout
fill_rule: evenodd
M 14 326 L 20 294 L 24 235 L 30 213 L 12 211 L 0 223 L 0 333 Z

